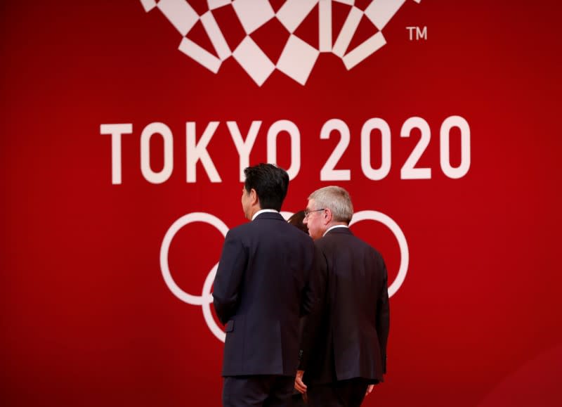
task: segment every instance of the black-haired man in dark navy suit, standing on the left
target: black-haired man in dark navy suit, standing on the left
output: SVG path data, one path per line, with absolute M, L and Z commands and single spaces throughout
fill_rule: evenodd
M 279 214 L 289 176 L 272 164 L 244 170 L 242 209 L 214 281 L 226 325 L 223 406 L 285 406 L 299 364 L 299 317 L 314 302 L 308 279 L 313 240 Z

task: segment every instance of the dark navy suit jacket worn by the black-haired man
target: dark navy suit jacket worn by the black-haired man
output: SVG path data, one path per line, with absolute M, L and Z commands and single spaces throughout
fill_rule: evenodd
M 213 292 L 226 324 L 223 376 L 295 375 L 313 256 L 313 240 L 278 213 L 227 233 Z

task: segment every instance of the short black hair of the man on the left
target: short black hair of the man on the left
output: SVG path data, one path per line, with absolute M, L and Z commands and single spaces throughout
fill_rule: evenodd
M 256 190 L 261 209 L 281 210 L 289 188 L 289 175 L 285 169 L 273 164 L 257 164 L 244 169 L 244 175 L 244 189 L 247 192 L 252 188 Z

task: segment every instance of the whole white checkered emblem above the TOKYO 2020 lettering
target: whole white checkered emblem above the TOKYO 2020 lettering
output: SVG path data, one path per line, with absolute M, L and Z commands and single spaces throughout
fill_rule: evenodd
M 417 4 L 421 0 L 414 0 Z M 332 3 L 351 5 L 343 27 L 332 41 Z M 277 19 L 291 32 L 282 55 L 277 61 L 277 68 L 300 84 L 305 84 L 318 60 L 320 52 L 332 52 L 339 56 L 348 70 L 365 60 L 375 51 L 386 44 L 382 32 L 374 34 L 352 51 L 348 51 L 349 44 L 360 25 L 362 15 L 381 31 L 393 15 L 405 3 L 405 0 L 372 0 L 365 12 L 353 6 L 354 0 L 286 0 L 277 12 Z M 233 52 L 228 46 L 221 27 L 218 26 L 211 10 L 231 4 L 247 37 Z M 305 41 L 295 37 L 292 33 L 301 25 L 313 8 L 318 4 L 318 50 L 313 49 Z M 162 14 L 180 32 L 183 39 L 179 45 L 180 51 L 207 67 L 211 72 L 218 72 L 222 61 L 234 56 L 237 63 L 247 74 L 261 86 L 275 70 L 275 64 L 266 56 L 260 47 L 249 37 L 263 24 L 275 17 L 275 12 L 268 0 L 207 0 L 209 11 L 202 16 L 190 5 L 190 0 L 141 0 L 146 12 L 159 8 Z M 205 32 L 211 40 L 216 55 L 206 51 L 202 46 L 186 38 L 186 35 L 201 20 Z M 218 58 L 217 58 L 218 56 Z

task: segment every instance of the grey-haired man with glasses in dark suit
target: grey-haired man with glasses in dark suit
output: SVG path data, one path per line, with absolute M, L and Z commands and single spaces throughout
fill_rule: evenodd
M 315 240 L 324 292 L 306 317 L 295 388 L 311 407 L 360 406 L 386 373 L 389 309 L 384 261 L 348 228 L 353 216 L 344 188 L 308 198 L 308 233 Z

